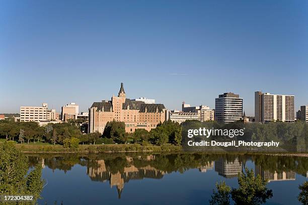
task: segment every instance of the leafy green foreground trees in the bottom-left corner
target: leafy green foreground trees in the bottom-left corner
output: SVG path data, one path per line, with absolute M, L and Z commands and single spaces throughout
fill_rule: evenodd
M 34 195 L 36 199 L 40 197 L 44 183 L 41 179 L 42 165 L 37 164 L 28 173 L 28 163 L 28 158 L 13 143 L 0 144 L 0 194 Z

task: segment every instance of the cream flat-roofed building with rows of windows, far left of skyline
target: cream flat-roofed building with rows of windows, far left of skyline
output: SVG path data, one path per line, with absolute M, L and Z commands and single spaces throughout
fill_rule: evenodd
M 47 120 L 48 104 L 43 103 L 42 107 L 21 106 L 20 122 L 40 122 Z

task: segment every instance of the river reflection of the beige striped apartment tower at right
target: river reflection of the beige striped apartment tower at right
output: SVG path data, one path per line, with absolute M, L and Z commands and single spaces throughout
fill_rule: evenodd
M 270 172 L 269 170 L 263 170 L 261 166 L 255 167 L 256 175 L 260 174 L 260 176 L 264 180 L 271 181 L 285 181 L 285 180 L 295 180 L 295 172 L 294 171 L 282 171 L 280 173 Z

